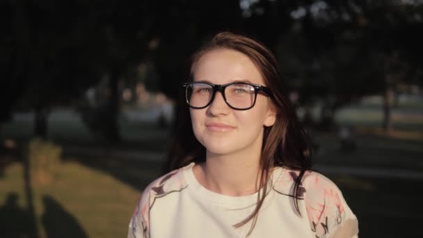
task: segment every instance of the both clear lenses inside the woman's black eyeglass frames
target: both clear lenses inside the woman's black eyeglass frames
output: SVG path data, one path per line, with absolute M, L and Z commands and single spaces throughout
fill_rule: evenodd
M 248 84 L 231 84 L 224 91 L 226 102 L 235 109 L 248 109 L 255 100 L 255 88 Z M 194 83 L 186 87 L 186 99 L 190 106 L 204 107 L 213 98 L 213 86 Z

